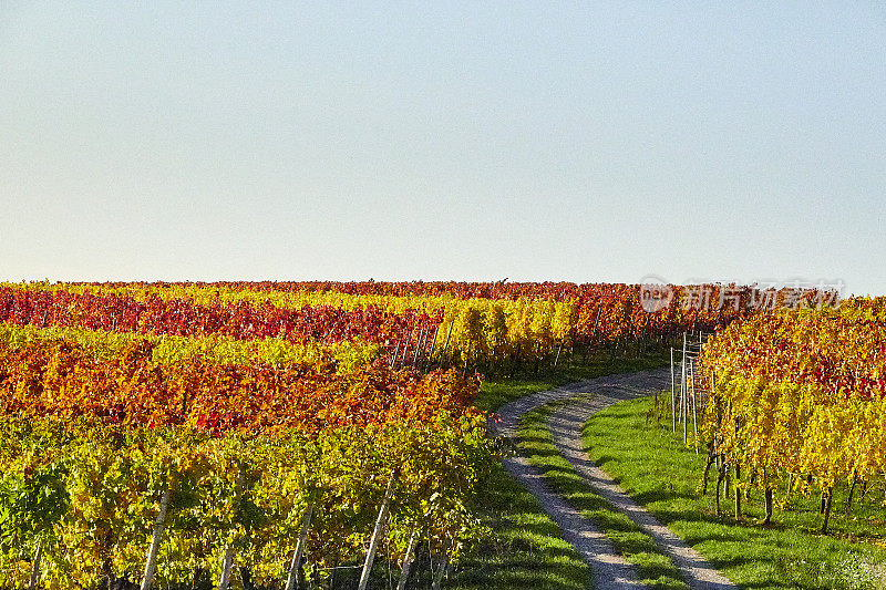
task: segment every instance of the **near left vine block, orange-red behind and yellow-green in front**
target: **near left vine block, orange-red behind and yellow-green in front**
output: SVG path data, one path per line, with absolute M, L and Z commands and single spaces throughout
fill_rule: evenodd
M 167 584 L 218 580 L 227 555 L 271 583 L 301 541 L 321 569 L 360 558 L 382 490 L 391 561 L 404 539 L 456 555 L 480 532 L 468 498 L 496 449 L 473 380 L 329 360 L 164 363 L 147 338 L 109 356 L 45 332 L 0 343 L 2 586 L 137 580 L 152 530 Z

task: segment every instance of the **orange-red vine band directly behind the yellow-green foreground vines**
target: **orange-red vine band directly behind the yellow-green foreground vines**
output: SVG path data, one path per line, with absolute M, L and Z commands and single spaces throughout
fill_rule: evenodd
M 476 384 L 454 372 L 421 376 L 383 364 L 339 372 L 333 362 L 217 364 L 153 360 L 148 341 L 110 359 L 69 341 L 0 343 L 0 414 L 21 418 L 102 417 L 133 426 L 190 425 L 214 432 L 423 423 L 463 414 Z

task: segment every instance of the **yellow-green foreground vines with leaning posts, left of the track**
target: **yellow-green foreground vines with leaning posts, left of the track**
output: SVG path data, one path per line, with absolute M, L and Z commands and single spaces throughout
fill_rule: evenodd
M 227 552 L 253 582 L 279 584 L 290 573 L 308 510 L 301 563 L 329 572 L 362 559 L 389 488 L 384 557 L 403 561 L 413 535 L 454 557 L 483 534 L 468 506 L 497 453 L 484 431 L 480 417 L 445 415 L 422 426 L 249 438 L 89 420 L 63 426 L 6 420 L 0 586 L 24 587 L 31 571 L 47 589 L 138 581 L 163 498 L 162 587 L 190 588 L 195 579 L 217 584 Z

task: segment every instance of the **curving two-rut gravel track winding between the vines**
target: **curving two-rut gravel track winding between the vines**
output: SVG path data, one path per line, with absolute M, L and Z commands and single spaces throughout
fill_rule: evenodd
M 588 459 L 581 443 L 581 428 L 587 420 L 600 410 L 622 401 L 661 390 L 670 383 L 667 370 L 641 371 L 607 375 L 556 390 L 538 392 L 502 406 L 498 411 L 497 431 L 517 439 L 517 427 L 527 412 L 549 402 L 575 398 L 573 403 L 554 412 L 549 428 L 560 453 L 575 466 L 594 490 L 616 509 L 625 513 L 658 544 L 662 553 L 670 557 L 683 579 L 693 589 L 727 590 L 735 586 L 717 571 L 701 555 L 686 545 L 645 508 L 638 506 L 602 469 Z M 505 459 L 505 467 L 536 497 L 538 503 L 560 527 L 564 538 L 594 570 L 597 590 L 638 589 L 637 571 L 591 521 L 569 506 L 544 483 L 542 473 L 523 456 Z

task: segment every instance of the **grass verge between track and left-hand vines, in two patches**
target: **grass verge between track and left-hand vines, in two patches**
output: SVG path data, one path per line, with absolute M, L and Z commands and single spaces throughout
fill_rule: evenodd
M 576 360 L 577 361 L 577 360 Z M 562 362 L 557 371 L 545 370 L 483 384 L 476 404 L 494 412 L 503 404 L 565 383 L 611 373 L 641 371 L 661 366 L 660 353 L 631 359 L 611 359 L 608 354 L 588 362 Z M 481 483 L 477 511 L 493 531 L 492 538 L 470 548 L 460 559 L 446 582 L 457 590 L 571 590 L 588 588 L 587 565 L 560 537 L 559 528 L 542 510 L 535 498 L 499 466 Z

